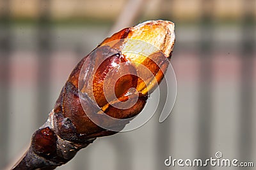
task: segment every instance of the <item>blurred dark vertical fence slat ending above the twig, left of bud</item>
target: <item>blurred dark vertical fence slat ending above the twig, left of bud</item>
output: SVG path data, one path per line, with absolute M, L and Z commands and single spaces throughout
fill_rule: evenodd
M 36 124 L 42 125 L 51 111 L 52 104 L 49 102 L 51 80 L 51 1 L 40 0 L 38 5 L 38 105 Z

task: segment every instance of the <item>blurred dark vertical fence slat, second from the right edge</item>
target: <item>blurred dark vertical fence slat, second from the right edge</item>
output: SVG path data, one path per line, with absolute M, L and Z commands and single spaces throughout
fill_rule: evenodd
M 201 41 L 200 41 L 200 84 L 198 102 L 198 142 L 197 157 L 205 160 L 211 155 L 211 125 L 212 125 L 212 19 L 214 12 L 214 1 L 202 1 Z M 198 167 L 202 169 L 202 167 Z M 203 169 L 211 169 L 210 166 Z

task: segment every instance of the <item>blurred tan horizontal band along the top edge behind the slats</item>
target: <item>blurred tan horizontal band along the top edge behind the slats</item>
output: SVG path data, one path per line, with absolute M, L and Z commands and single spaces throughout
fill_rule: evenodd
M 193 20 L 200 17 L 202 10 L 202 2 L 198 0 L 180 1 L 173 0 L 172 3 L 156 4 L 157 0 L 147 1 L 143 4 L 141 10 L 145 10 L 147 17 L 157 16 L 161 8 L 170 8 L 166 10 L 166 15 L 172 15 L 175 19 Z M 214 1 L 214 18 L 224 19 L 241 19 L 243 15 L 242 0 L 230 1 Z M 152 5 L 156 4 L 156 5 Z M 10 0 L 10 14 L 13 18 L 31 18 L 37 19 L 40 15 L 38 12 L 38 1 L 22 1 Z M 116 15 L 124 10 L 125 0 L 94 0 L 94 1 L 51 1 L 51 17 L 53 19 L 74 19 L 77 17 L 94 18 L 94 19 L 109 19 L 115 20 Z M 256 15 L 256 13 L 253 13 Z

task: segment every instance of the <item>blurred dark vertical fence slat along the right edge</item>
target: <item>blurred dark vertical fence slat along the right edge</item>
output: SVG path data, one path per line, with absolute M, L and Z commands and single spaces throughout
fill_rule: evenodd
M 243 18 L 241 22 L 241 91 L 239 117 L 239 156 L 240 160 L 252 161 L 253 131 L 253 56 L 255 52 L 255 1 L 243 3 Z

